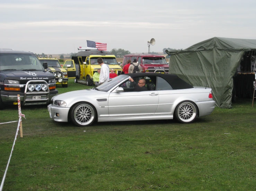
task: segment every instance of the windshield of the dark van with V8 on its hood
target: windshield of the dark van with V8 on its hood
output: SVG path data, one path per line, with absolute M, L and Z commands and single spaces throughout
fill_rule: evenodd
M 44 67 L 35 54 L 1 53 L 0 70 L 41 70 Z

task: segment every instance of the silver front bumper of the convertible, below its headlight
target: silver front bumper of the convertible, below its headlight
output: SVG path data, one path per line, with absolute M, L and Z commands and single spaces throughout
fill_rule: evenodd
M 54 121 L 68 122 L 70 108 L 56 107 L 51 104 L 48 105 L 47 108 L 50 113 L 50 118 L 52 118 Z M 57 113 L 59 114 L 59 117 L 57 116 Z

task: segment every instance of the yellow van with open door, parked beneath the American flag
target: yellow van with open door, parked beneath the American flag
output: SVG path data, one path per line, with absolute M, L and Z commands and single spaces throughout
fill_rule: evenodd
M 99 50 L 80 51 L 76 56 L 72 56 L 71 60 L 65 61 L 65 63 L 67 62 L 69 65 L 73 63 L 74 66 L 76 66 L 76 79 L 74 79 L 76 83 L 83 83 L 87 86 L 93 84 L 91 78 L 93 74 L 97 72 L 97 69 L 101 68 L 97 62 L 99 57 L 103 59 L 104 63 L 108 64 L 109 72 L 113 69 L 117 75 L 121 74 L 122 68 L 119 66 L 120 63 L 116 61 L 115 55 L 111 52 Z

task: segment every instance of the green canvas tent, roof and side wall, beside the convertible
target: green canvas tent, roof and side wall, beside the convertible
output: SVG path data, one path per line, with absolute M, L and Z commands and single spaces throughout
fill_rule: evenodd
M 256 40 L 214 37 L 185 49 L 166 50 L 169 73 L 193 86 L 212 88 L 220 108 L 232 108 L 233 76 L 245 52 L 256 52 Z

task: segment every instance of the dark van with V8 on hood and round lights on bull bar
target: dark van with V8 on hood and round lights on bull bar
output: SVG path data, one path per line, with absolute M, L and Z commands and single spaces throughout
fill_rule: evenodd
M 48 104 L 58 94 L 55 76 L 32 52 L 0 49 L 0 109 L 5 104 Z

